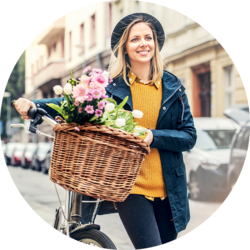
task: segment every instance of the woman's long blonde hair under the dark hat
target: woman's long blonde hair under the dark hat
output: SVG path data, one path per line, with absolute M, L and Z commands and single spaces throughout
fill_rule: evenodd
M 131 65 L 130 65 L 128 54 L 125 54 L 126 43 L 128 40 L 129 32 L 131 28 L 133 27 L 133 25 L 135 25 L 136 23 L 141 23 L 141 22 L 147 24 L 151 28 L 154 42 L 155 42 L 155 54 L 152 57 L 151 64 L 150 64 L 151 65 L 150 78 L 152 79 L 152 82 L 155 82 L 157 79 L 159 78 L 162 79 L 163 77 L 163 70 L 164 70 L 165 65 L 162 61 L 160 51 L 159 51 L 157 32 L 155 30 L 154 25 L 150 23 L 150 21 L 145 20 L 143 16 L 139 16 L 127 26 L 119 42 L 114 46 L 113 53 L 111 53 L 111 57 L 110 57 L 109 67 L 108 67 L 108 72 L 113 79 L 122 76 L 123 80 L 128 86 L 130 86 L 130 84 L 127 81 L 126 76 L 128 74 L 128 70 L 131 69 Z M 165 39 L 165 37 L 163 39 Z M 115 54 L 117 55 L 117 58 L 115 58 L 114 56 Z

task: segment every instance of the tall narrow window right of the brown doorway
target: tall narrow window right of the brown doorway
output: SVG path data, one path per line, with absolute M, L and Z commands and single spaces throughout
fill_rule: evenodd
M 233 82 L 232 82 L 232 65 L 224 68 L 225 79 L 225 109 L 233 105 Z

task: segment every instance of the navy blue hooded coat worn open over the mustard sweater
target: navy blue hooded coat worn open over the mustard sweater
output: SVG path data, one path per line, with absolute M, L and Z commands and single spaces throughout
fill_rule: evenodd
M 151 148 L 157 148 L 160 153 L 164 181 L 172 211 L 176 232 L 184 230 L 190 220 L 187 180 L 183 151 L 192 149 L 196 143 L 196 129 L 190 112 L 185 87 L 180 80 L 164 70 L 162 105 L 158 116 L 156 129 L 152 129 L 154 140 Z M 114 79 L 106 88 L 107 95 L 119 104 L 129 96 L 124 106 L 125 110 L 133 110 L 131 90 L 122 77 Z M 58 104 L 64 98 L 34 100 L 37 107 L 45 109 L 52 117 L 59 115 L 46 103 Z M 97 200 L 83 195 L 83 200 Z M 82 204 L 82 223 L 94 222 L 96 215 L 117 213 L 111 201 Z

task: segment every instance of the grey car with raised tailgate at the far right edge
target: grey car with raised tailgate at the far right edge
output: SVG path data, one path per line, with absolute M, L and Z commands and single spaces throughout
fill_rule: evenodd
M 241 125 L 233 137 L 228 164 L 227 187 L 228 196 L 230 196 L 241 178 L 249 156 L 250 113 L 237 109 L 227 109 L 224 114 Z

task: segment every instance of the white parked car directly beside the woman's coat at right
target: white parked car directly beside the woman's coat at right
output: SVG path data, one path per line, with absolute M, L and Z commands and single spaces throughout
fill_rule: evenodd
M 197 141 L 183 152 L 189 198 L 207 199 L 227 192 L 227 169 L 232 138 L 239 125 L 229 118 L 195 117 Z

